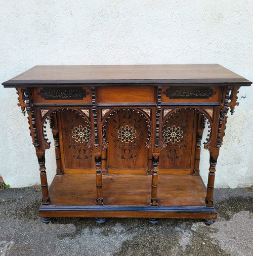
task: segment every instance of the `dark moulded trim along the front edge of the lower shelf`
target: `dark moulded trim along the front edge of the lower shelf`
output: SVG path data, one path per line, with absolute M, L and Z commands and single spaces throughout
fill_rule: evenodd
M 41 205 L 39 211 L 140 211 L 140 212 L 201 212 L 217 213 L 206 206 L 113 206 L 113 205 Z

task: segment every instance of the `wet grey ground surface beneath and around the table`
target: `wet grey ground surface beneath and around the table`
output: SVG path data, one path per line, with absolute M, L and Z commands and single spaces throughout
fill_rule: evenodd
M 215 189 L 216 222 L 198 219 L 54 218 L 40 222 L 40 190 L 0 191 L 3 255 L 253 255 L 253 191 Z M 252 216 L 252 215 L 251 215 Z

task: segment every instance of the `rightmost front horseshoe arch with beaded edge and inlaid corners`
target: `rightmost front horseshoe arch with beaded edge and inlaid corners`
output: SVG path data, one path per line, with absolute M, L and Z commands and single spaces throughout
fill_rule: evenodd
M 205 108 L 203 107 L 170 107 L 170 109 L 172 109 L 171 111 L 168 111 L 168 113 L 166 115 L 164 115 L 164 118 L 162 120 L 162 125 L 161 125 L 161 129 L 160 129 L 160 137 L 162 138 L 162 127 L 164 125 L 164 122 L 166 121 L 167 118 L 170 118 L 171 115 L 173 115 L 175 112 L 177 111 L 182 111 L 183 109 L 191 109 L 193 111 L 197 111 L 199 114 L 204 116 L 204 119 L 207 121 L 207 125 L 208 125 L 208 133 L 207 133 L 207 138 L 206 138 L 206 142 L 204 142 L 204 148 L 209 150 L 215 146 L 216 140 L 217 140 L 217 130 L 218 130 L 218 119 L 219 119 L 219 109 L 220 107 L 206 107 L 206 109 L 213 109 L 213 113 L 210 113 L 208 111 L 205 110 Z M 161 148 L 165 148 L 167 145 L 166 143 L 164 143 L 164 140 L 161 139 L 160 140 L 161 143 Z

